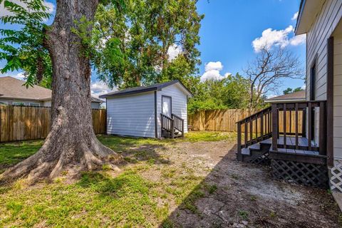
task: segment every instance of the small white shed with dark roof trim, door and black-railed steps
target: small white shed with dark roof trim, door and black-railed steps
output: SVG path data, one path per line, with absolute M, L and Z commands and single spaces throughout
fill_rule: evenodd
M 175 138 L 187 133 L 187 98 L 180 81 L 140 86 L 100 95 L 107 103 L 107 133 Z

